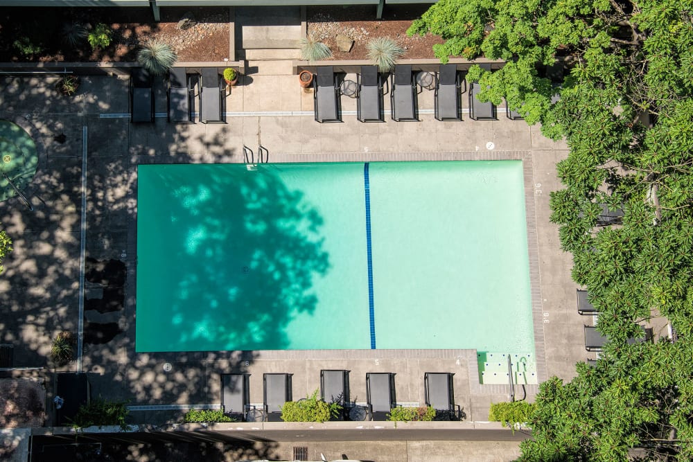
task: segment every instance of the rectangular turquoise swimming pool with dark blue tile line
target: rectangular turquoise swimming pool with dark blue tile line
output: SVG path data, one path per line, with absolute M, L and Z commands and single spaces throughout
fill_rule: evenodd
M 136 349 L 534 354 L 521 161 L 142 165 Z

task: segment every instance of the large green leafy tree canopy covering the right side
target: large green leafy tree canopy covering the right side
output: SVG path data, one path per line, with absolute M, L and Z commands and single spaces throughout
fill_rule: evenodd
M 542 384 L 521 460 L 693 460 L 692 15 L 692 0 L 440 0 L 410 28 L 446 39 L 443 62 L 505 61 L 467 78 L 570 148 L 552 220 L 610 341 Z M 598 226 L 599 204 L 622 223 Z M 629 343 L 653 316 L 673 338 Z

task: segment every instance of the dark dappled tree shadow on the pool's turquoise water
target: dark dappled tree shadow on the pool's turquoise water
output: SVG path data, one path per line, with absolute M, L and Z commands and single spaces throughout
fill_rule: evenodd
M 138 187 L 138 350 L 286 348 L 329 266 L 316 208 L 272 166 L 141 166 Z

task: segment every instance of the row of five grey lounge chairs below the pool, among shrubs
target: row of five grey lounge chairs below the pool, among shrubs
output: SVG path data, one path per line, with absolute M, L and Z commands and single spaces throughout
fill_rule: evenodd
M 423 383 L 426 405 L 442 411 L 449 418 L 458 417 L 461 409 L 455 405 L 453 373 L 424 374 Z M 222 374 L 222 407 L 226 414 L 247 421 L 281 421 L 281 408 L 292 400 L 292 375 L 289 373 L 265 373 L 263 375 L 263 407 L 256 409 L 250 404 L 250 374 Z M 339 420 L 387 420 L 387 414 L 396 407 L 394 373 L 367 373 L 364 409 L 351 402 L 349 395 L 349 371 L 320 371 L 320 398 L 337 402 L 344 411 Z M 360 412 L 364 411 L 364 412 Z

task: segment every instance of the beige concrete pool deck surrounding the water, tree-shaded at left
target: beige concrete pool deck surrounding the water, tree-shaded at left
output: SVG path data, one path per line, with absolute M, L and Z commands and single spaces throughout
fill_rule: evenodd
M 225 124 L 168 123 L 164 80 L 155 85 L 155 123 L 133 125 L 127 79 L 82 78 L 71 99 L 56 93 L 56 78 L 0 79 L 0 118 L 24 127 L 40 154 L 37 175 L 25 191 L 34 211 L 16 198 L 0 204 L 0 222 L 15 248 L 0 276 L 0 343 L 15 344 L 15 366 L 45 367 L 35 373 L 49 377 L 51 339 L 60 330 L 79 328 L 84 189 L 86 256 L 121 260 L 127 272 L 124 309 L 87 310 L 84 319 L 117 323 L 123 333 L 104 344 L 85 344 L 80 362 L 58 369 L 81 366 L 91 373 L 93 396 L 137 406 L 218 404 L 220 373 L 245 371 L 251 374 L 252 403 L 263 400 L 265 372 L 293 373 L 298 399 L 319 387 L 321 368 L 346 368 L 357 402 L 365 402 L 365 373 L 394 372 L 398 402 L 423 404 L 427 371 L 455 373 L 455 400 L 468 421 L 487 420 L 491 402 L 508 400 L 507 385 L 478 384 L 471 350 L 134 353 L 137 165 L 242 163 L 243 145 L 255 152 L 263 145 L 270 162 L 523 159 L 539 379 L 568 380 L 575 362 L 593 357 L 584 349 L 582 329 L 592 319 L 577 314 L 570 254 L 561 251 L 557 226 L 549 222 L 550 192 L 560 186 L 555 166 L 568 153 L 565 143 L 545 139 L 539 127 L 509 120 L 504 107 L 498 121 L 472 121 L 466 112 L 462 122 L 436 121 L 433 91 L 427 90 L 419 94 L 419 122 L 392 121 L 386 94 L 385 123 L 358 122 L 356 100 L 342 96 L 344 122 L 320 124 L 313 120 L 313 93 L 297 85 L 290 62 L 250 62 L 249 68 L 256 72 L 227 96 Z M 465 93 L 465 110 L 466 99 Z M 59 134 L 66 136 L 63 143 L 54 139 Z M 84 285 L 85 292 L 93 288 Z M 464 329 L 459 326 L 459 335 Z M 170 373 L 163 370 L 165 362 L 173 364 Z M 529 398 L 536 389 L 527 387 Z M 50 400 L 50 387 L 48 392 Z M 162 415 L 135 414 L 138 421 Z

